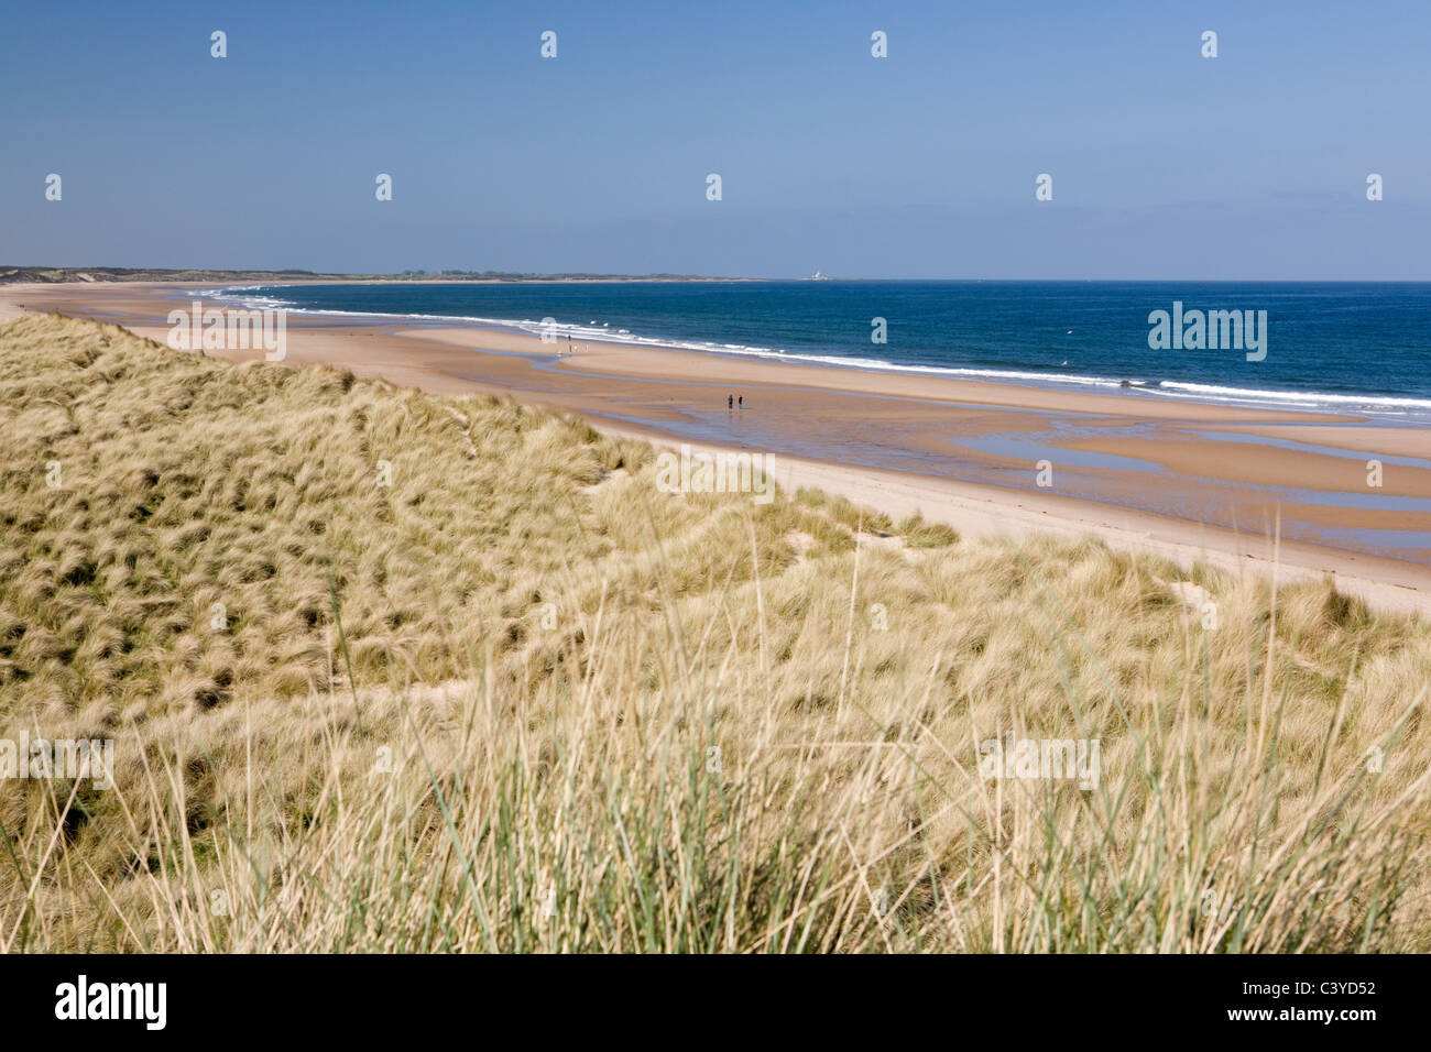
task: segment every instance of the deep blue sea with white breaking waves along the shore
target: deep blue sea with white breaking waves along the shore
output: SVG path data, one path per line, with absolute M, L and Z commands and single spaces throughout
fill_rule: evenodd
M 305 312 L 529 332 L 551 318 L 561 339 L 674 344 L 693 355 L 773 355 L 1070 389 L 1128 382 L 1148 398 L 1431 418 L 1431 283 L 395 283 L 226 295 Z M 1265 311 L 1265 359 L 1246 361 L 1242 349 L 1152 349 L 1149 313 L 1172 312 L 1173 301 L 1183 311 Z M 886 319 L 886 344 L 871 341 L 874 318 Z

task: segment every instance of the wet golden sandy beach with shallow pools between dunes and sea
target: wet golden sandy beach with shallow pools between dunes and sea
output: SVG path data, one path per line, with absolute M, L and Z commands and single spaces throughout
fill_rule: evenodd
M 163 342 L 165 316 L 193 288 L 11 285 L 0 316 L 59 312 Z M 1275 560 L 1284 577 L 1329 574 L 1379 608 L 1431 610 L 1422 428 L 392 319 L 290 315 L 286 362 L 511 395 L 655 442 L 770 452 L 783 485 L 919 510 L 970 535 L 1090 532 L 1236 570 Z M 728 395 L 744 408 L 727 409 Z M 1381 462 L 1379 487 L 1368 461 Z

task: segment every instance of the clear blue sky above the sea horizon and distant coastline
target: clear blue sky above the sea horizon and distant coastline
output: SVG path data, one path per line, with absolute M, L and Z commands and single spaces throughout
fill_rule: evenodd
M 4 30 L 0 263 L 1431 279 L 1424 0 L 110 1 Z

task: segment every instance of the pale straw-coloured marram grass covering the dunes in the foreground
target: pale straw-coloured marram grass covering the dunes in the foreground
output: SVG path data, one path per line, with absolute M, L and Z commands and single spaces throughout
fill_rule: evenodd
M 1431 628 L 1327 584 L 53 316 L 0 435 L 0 740 L 114 741 L 0 781 L 0 949 L 1431 948 Z

